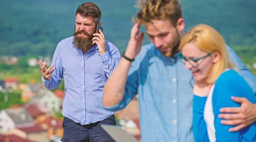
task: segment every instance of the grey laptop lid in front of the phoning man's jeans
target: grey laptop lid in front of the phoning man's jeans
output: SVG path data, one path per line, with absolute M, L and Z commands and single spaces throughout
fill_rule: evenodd
M 116 142 L 138 142 L 127 131 L 120 126 L 102 124 L 101 127 L 116 141 Z

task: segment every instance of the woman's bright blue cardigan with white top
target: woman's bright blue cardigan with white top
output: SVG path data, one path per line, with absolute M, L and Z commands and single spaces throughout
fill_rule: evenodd
M 256 122 L 240 131 L 229 132 L 228 129 L 234 126 L 222 125 L 221 119 L 218 118 L 221 108 L 240 106 L 231 100 L 231 96 L 245 97 L 256 103 L 255 94 L 244 78 L 234 70 L 228 70 L 218 77 L 211 91 L 212 94 L 210 92 L 211 96 L 208 95 L 208 98 L 196 95 L 193 98 L 195 142 L 256 142 Z

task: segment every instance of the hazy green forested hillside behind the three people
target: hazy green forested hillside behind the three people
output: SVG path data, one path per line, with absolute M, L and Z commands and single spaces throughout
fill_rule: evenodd
M 61 39 L 72 36 L 77 6 L 87 0 L 1 0 L 0 56 L 52 56 Z M 105 37 L 125 50 L 137 9 L 135 0 L 91 0 L 102 11 Z M 180 0 L 186 28 L 206 23 L 229 45 L 256 44 L 256 0 Z M 144 44 L 149 40 L 146 37 Z

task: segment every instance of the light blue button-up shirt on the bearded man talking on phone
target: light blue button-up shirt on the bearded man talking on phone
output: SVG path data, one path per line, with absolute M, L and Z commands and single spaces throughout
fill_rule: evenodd
M 73 47 L 74 37 L 58 43 L 52 58 L 55 71 L 52 78 L 42 81 L 47 89 L 55 89 L 64 76 L 65 95 L 62 114 L 81 125 L 104 120 L 114 114 L 100 103 L 108 77 L 120 61 L 120 53 L 111 42 L 106 41 L 106 50 L 99 55 L 94 45 L 84 55 Z

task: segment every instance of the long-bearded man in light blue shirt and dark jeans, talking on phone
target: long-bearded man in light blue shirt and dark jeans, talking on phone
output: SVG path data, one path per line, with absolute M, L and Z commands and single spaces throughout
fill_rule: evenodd
M 96 33 L 100 19 L 101 11 L 96 4 L 81 4 L 76 9 L 73 36 L 58 43 L 48 69 L 40 61 L 42 81 L 47 89 L 55 89 L 65 78 L 62 142 L 114 142 L 100 126 L 116 125 L 114 112 L 105 110 L 100 98 L 121 57 L 115 45 L 105 40 L 102 31 Z

